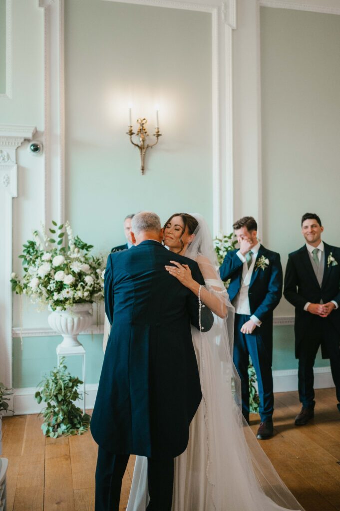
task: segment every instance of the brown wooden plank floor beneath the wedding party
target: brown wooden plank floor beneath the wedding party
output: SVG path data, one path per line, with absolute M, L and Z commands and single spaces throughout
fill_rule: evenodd
M 340 511 L 340 414 L 335 390 L 316 390 L 315 400 L 314 421 L 296 427 L 297 392 L 276 394 L 275 436 L 261 446 L 306 511 Z M 97 447 L 90 433 L 47 439 L 40 423 L 36 415 L 3 421 L 3 454 L 9 459 L 7 511 L 93 511 Z M 254 432 L 258 423 L 253 415 Z M 131 456 L 120 510 L 126 508 L 133 463 Z

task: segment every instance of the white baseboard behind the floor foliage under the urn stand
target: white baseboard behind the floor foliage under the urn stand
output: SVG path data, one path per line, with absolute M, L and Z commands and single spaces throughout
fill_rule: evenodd
M 96 396 L 98 390 L 98 383 L 89 383 L 85 385 L 86 409 L 91 409 L 95 406 Z M 37 391 L 35 387 L 16 388 L 13 393 L 13 410 L 14 415 L 27 415 L 30 413 L 39 413 L 46 403 L 38 404 L 34 399 L 34 394 Z M 82 409 L 82 400 L 76 401 L 76 405 Z M 8 414 L 10 415 L 10 414 Z

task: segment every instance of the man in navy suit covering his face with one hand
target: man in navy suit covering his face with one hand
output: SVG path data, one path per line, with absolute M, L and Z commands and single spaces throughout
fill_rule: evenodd
M 257 438 L 273 436 L 273 311 L 282 296 L 280 255 L 257 240 L 257 223 L 243 217 L 233 225 L 239 250 L 231 250 L 220 267 L 235 307 L 234 364 L 241 379 L 242 413 L 249 422 L 249 355 L 256 371 L 261 423 Z

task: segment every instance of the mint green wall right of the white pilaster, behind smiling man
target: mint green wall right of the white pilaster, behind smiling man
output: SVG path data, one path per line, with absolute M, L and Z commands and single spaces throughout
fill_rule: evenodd
M 340 16 L 260 9 L 263 243 L 303 245 L 303 213 L 318 213 L 339 245 Z M 277 315 L 293 315 L 282 298 Z M 296 367 L 293 327 L 274 328 L 274 369 Z M 316 366 L 329 365 L 320 353 Z

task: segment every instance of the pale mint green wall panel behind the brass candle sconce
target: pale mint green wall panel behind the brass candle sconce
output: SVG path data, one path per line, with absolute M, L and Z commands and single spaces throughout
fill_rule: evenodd
M 212 48 L 208 13 L 102 0 L 65 3 L 66 217 L 107 252 L 122 222 L 151 210 L 162 222 L 200 212 L 212 226 Z M 163 136 L 146 156 L 132 122 Z

